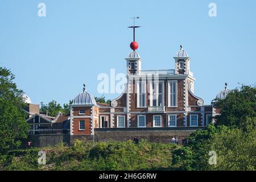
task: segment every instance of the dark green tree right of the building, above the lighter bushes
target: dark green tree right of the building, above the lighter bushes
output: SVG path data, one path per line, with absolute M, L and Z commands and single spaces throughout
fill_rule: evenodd
M 224 100 L 215 101 L 214 106 L 221 109 L 220 115 L 216 116 L 217 125 L 245 129 L 249 123 L 255 124 L 256 88 L 243 85 L 231 90 Z

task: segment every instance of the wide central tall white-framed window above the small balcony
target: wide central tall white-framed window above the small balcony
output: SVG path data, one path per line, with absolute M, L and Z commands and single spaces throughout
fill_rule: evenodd
M 164 106 L 163 81 L 150 81 L 150 106 Z

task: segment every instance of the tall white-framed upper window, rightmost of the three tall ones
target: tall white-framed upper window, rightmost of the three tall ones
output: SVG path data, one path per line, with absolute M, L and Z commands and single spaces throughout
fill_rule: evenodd
M 177 81 L 168 81 L 168 107 L 177 107 Z

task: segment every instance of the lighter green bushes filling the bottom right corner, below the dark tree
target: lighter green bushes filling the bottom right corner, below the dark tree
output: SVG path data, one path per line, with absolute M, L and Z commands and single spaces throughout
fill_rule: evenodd
M 172 164 L 180 170 L 255 170 L 256 129 L 246 131 L 209 125 L 189 137 L 189 143 L 174 151 Z M 217 164 L 210 165 L 209 152 L 217 154 Z M 182 154 L 182 155 L 181 155 Z

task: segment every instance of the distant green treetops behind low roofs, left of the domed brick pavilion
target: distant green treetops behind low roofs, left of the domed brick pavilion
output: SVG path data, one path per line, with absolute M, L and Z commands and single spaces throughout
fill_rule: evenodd
M 52 100 L 48 104 L 41 102 L 40 112 L 48 113 L 49 116 L 55 117 L 59 112 L 68 114 L 70 112 L 70 106 L 73 104 L 73 100 L 69 101 L 69 104 L 64 104 L 63 107 L 57 104 L 55 100 Z

